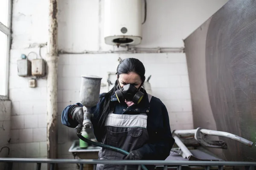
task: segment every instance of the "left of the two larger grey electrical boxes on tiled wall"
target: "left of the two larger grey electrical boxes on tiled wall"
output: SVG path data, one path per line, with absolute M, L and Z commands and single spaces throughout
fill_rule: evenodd
M 31 62 L 24 54 L 21 55 L 21 59 L 17 60 L 17 71 L 20 77 L 31 76 Z

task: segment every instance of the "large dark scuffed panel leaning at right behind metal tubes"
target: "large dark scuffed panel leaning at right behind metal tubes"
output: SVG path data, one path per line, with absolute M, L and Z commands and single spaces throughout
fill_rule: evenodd
M 209 116 L 205 116 L 201 108 L 205 106 L 198 100 L 207 93 L 210 104 L 207 114 L 213 116 L 217 130 L 255 142 L 256 0 L 230 0 L 202 26 L 207 23 L 207 30 L 200 33 L 198 28 L 184 41 L 195 125 L 202 127 L 208 121 Z M 198 77 L 198 65 L 205 65 L 205 69 L 200 68 L 205 77 L 202 73 Z M 196 86 L 205 83 L 207 89 L 198 92 Z M 256 161 L 255 145 L 250 148 L 233 140 L 223 140 L 228 144 L 228 150 L 223 150 L 227 160 Z

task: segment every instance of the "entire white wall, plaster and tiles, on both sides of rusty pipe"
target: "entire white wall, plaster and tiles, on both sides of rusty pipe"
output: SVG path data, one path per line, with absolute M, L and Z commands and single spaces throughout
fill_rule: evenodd
M 148 0 L 147 21 L 143 25 L 143 47 L 183 46 L 182 39 L 207 20 L 227 0 Z M 185 4 L 185 5 L 184 5 Z M 198 5 L 200 4 L 200 5 Z M 68 51 L 113 49 L 104 44 L 102 0 L 58 1 L 58 46 Z M 192 7 L 191 7 L 192 6 Z M 10 58 L 9 96 L 12 100 L 11 156 L 47 156 L 46 79 L 37 80 L 37 88 L 28 87 L 28 79 L 17 76 L 17 59 L 34 51 L 37 44 L 47 42 L 48 1 L 15 0 L 12 14 L 12 50 Z M 46 48 L 41 49 L 44 58 Z M 107 71 L 116 71 L 117 59 L 135 57 L 146 68 L 154 96 L 169 111 L 174 129 L 192 128 L 192 109 L 185 54 L 84 54 L 60 55 L 58 65 L 58 156 L 70 158 L 68 148 L 77 139 L 76 131 L 61 124 L 61 111 L 79 102 L 81 74 L 96 74 L 106 83 Z M 29 59 L 35 55 L 29 56 Z M 106 91 L 102 89 L 102 92 Z M 1 123 L 1 120 L 0 120 Z M 8 124 L 8 121 L 5 121 Z M 10 122 L 9 122 L 10 123 Z M 0 129 L 1 130 L 1 129 Z M 2 136 L 0 138 L 0 141 Z M 45 164 L 42 164 L 45 169 Z M 75 165 L 63 164 L 61 169 Z M 35 168 L 32 164 L 15 164 L 14 170 Z

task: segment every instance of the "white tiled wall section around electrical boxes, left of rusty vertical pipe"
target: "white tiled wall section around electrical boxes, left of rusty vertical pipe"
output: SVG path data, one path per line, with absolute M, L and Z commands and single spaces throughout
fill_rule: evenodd
M 17 44 L 13 44 L 16 48 Z M 17 47 L 18 48 L 18 47 Z M 31 77 L 17 76 L 17 59 L 21 54 L 34 51 L 39 55 L 39 48 L 12 49 L 10 57 L 9 98 L 12 100 L 10 147 L 12 157 L 45 158 L 46 145 L 46 79 L 37 80 L 37 88 L 28 87 Z M 46 48 L 41 48 L 45 58 Z M 30 56 L 33 59 L 35 56 Z M 35 169 L 35 164 L 14 164 L 14 170 Z M 46 165 L 42 164 L 42 170 Z

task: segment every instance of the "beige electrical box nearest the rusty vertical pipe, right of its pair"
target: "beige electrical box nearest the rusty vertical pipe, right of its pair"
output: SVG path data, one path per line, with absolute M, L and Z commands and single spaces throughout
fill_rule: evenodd
M 32 60 L 32 76 L 44 77 L 46 73 L 46 66 L 44 59 Z

